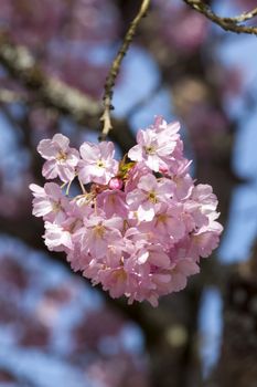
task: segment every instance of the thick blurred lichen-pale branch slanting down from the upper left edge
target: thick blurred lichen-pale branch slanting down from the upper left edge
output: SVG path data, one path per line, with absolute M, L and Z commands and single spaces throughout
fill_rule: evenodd
M 0 62 L 13 79 L 34 92 L 36 102 L 57 107 L 64 114 L 72 113 L 76 121 L 100 113 L 97 102 L 64 82 L 45 75 L 26 48 L 13 44 L 3 33 L 0 34 Z

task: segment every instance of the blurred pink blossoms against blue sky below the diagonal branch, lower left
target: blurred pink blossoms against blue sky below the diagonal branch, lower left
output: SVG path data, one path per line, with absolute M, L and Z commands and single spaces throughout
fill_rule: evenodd
M 124 339 L 124 332 L 131 332 L 130 322 L 103 305 L 97 292 L 49 257 L 22 243 L 10 250 L 7 242 L 4 249 L 0 253 L 1 354 L 12 360 L 4 363 L 1 357 L 1 387 L 28 386 L 24 378 L 39 386 L 41 375 L 43 386 L 52 387 L 103 386 L 103 379 L 105 387 L 149 386 L 144 352 L 127 348 Z M 116 351 L 106 356 L 110 337 Z M 24 357 L 24 367 L 15 354 Z M 60 365 L 68 373 L 53 377 Z M 7 378 L 8 372 L 15 384 Z

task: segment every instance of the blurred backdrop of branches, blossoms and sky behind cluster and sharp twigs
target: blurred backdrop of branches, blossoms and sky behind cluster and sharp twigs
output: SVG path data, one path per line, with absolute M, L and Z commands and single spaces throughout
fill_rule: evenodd
M 257 6 L 208 3 L 224 15 Z M 221 248 L 186 290 L 158 308 L 110 300 L 46 252 L 31 215 L 39 140 L 97 140 L 105 77 L 139 6 L 1 0 L 0 386 L 257 386 L 256 36 L 152 0 L 115 88 L 117 156 L 156 114 L 179 119 L 195 179 L 218 197 Z

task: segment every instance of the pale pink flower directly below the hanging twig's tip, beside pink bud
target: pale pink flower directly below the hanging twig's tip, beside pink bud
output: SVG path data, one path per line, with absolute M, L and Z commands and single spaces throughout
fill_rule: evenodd
M 118 172 L 118 161 L 114 159 L 113 143 L 103 142 L 98 145 L 84 143 L 79 150 L 83 159 L 78 165 L 78 177 L 82 182 L 94 181 L 107 185 Z

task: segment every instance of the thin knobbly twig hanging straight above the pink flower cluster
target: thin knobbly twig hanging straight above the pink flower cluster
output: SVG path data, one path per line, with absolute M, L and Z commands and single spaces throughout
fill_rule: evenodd
M 120 65 L 122 62 L 124 56 L 126 55 L 129 45 L 133 39 L 133 35 L 136 33 L 136 30 L 138 28 L 138 24 L 140 23 L 141 19 L 146 15 L 149 6 L 150 6 L 150 1 L 151 0 L 143 0 L 140 7 L 140 10 L 138 12 L 138 14 L 136 15 L 136 18 L 133 19 L 133 21 L 131 22 L 125 38 L 122 41 L 122 44 L 114 60 L 114 62 L 111 63 L 109 73 L 107 75 L 106 79 L 106 83 L 105 83 L 105 94 L 104 94 L 104 113 L 100 117 L 100 121 L 103 121 L 104 126 L 103 126 L 103 130 L 101 130 L 101 135 L 99 137 L 99 140 L 105 140 L 106 137 L 108 136 L 109 130 L 113 128 L 111 125 L 111 119 L 110 119 L 110 111 L 114 109 L 114 106 L 111 105 L 111 98 L 113 98 L 113 87 L 115 85 L 115 81 L 117 79 L 117 75 L 119 73 L 120 70 Z

